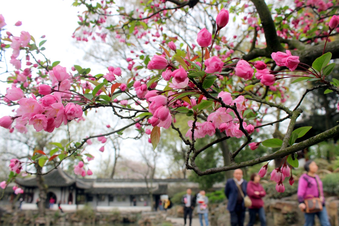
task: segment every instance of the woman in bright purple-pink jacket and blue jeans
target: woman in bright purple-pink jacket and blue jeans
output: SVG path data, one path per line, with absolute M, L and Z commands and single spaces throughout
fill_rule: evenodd
M 325 207 L 325 199 L 324 199 L 324 192 L 322 187 L 322 182 L 319 176 L 316 174 L 318 171 L 317 164 L 312 161 L 308 160 L 304 165 L 305 170 L 307 173 L 304 173 L 300 176 L 298 182 L 298 201 L 299 201 L 299 208 L 302 211 L 305 211 L 305 224 L 304 226 L 313 226 L 314 225 L 314 218 L 315 215 L 318 216 L 321 226 L 331 226 L 330 222 L 328 221 L 328 215 Z M 317 198 L 319 197 L 322 205 L 322 210 L 319 209 L 317 212 L 307 213 L 305 199 L 308 198 Z

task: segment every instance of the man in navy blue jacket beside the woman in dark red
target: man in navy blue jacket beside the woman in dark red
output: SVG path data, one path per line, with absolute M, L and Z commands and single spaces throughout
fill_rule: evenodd
M 245 204 L 236 183 L 241 187 L 243 194 L 246 195 L 247 181 L 243 180 L 241 169 L 236 169 L 233 173 L 233 178 L 227 180 L 225 195 L 228 199 L 227 209 L 231 214 L 231 226 L 243 226 L 245 219 Z

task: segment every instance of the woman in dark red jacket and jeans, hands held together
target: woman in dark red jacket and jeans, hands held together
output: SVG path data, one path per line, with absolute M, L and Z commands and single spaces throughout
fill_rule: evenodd
M 261 186 L 260 176 L 257 173 L 251 175 L 251 181 L 247 183 L 247 195 L 252 201 L 252 206 L 248 207 L 250 221 L 247 226 L 253 226 L 258 213 L 261 226 L 266 226 L 266 216 L 264 210 L 264 201 L 262 197 L 266 195 L 264 188 Z

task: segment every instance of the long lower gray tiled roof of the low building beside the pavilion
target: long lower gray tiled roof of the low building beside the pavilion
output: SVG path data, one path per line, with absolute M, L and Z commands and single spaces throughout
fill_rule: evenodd
M 85 190 L 85 193 L 88 194 L 111 194 L 111 195 L 144 195 L 148 194 L 146 187 L 126 187 L 126 188 L 91 188 Z M 153 194 L 160 195 L 167 193 L 167 184 L 159 185 L 156 188 L 153 188 Z

